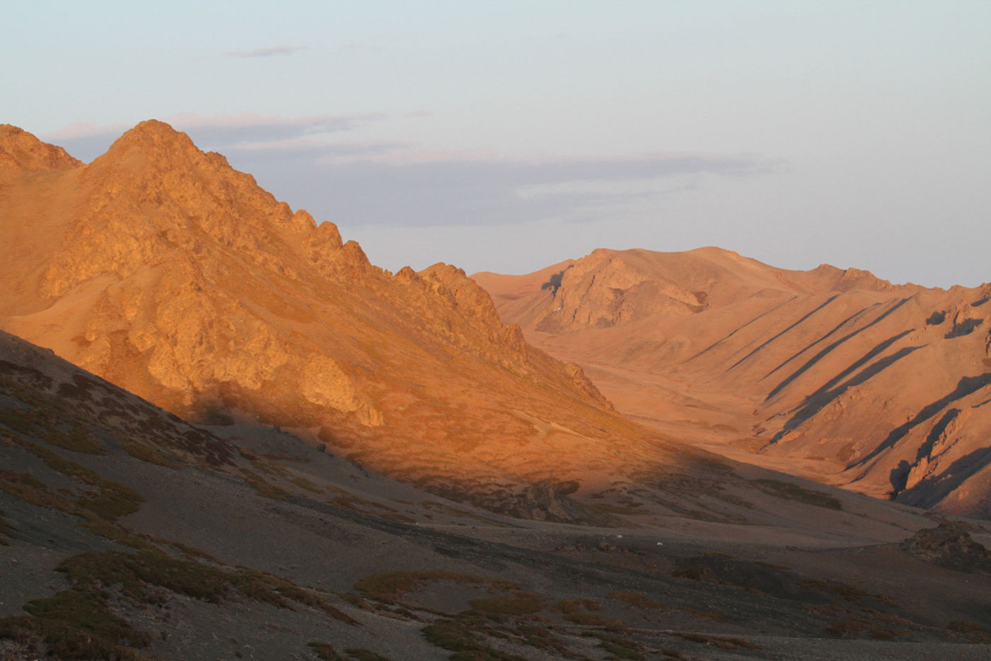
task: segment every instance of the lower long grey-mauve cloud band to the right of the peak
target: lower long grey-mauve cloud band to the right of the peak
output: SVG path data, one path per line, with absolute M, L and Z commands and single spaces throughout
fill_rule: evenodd
M 407 228 L 585 223 L 783 167 L 748 155 L 503 159 L 399 143 L 351 147 L 297 152 L 291 168 L 287 151 L 244 151 L 231 163 L 318 219 Z

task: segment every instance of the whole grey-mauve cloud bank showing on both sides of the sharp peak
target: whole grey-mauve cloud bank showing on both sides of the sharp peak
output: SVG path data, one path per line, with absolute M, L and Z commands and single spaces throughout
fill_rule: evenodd
M 318 220 L 384 229 L 545 221 L 587 226 L 700 195 L 719 180 L 773 176 L 786 166 L 760 155 L 704 152 L 506 158 L 357 137 L 359 129 L 397 116 L 403 115 L 188 113 L 162 119 Z M 75 146 L 102 141 L 96 156 L 127 128 L 73 125 L 53 141 L 77 158 Z

